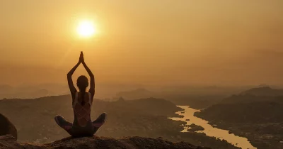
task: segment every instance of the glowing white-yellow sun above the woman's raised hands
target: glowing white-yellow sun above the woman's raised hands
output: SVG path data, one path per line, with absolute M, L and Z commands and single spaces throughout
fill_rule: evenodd
M 79 22 L 76 32 L 83 38 L 89 38 L 96 35 L 97 28 L 93 21 L 84 20 Z

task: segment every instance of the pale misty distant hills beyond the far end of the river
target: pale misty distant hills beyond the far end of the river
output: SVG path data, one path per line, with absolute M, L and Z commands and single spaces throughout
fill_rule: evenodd
M 118 92 L 116 98 L 127 100 L 141 98 L 161 98 L 173 102 L 176 105 L 190 105 L 194 109 L 204 109 L 218 103 L 230 94 L 239 94 L 247 87 L 166 87 L 158 91 L 149 91 L 139 88 L 126 92 Z

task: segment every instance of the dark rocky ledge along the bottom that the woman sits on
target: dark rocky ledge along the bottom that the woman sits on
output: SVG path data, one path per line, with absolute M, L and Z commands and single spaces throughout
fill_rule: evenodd
M 17 143 L 12 136 L 0 136 L 0 148 L 8 149 L 97 149 L 97 148 L 170 148 L 170 149 L 209 149 L 200 146 L 191 145 L 190 143 L 179 142 L 173 143 L 162 138 L 142 138 L 142 137 L 127 137 L 127 138 L 103 138 L 98 136 L 85 138 L 64 138 L 53 143 L 47 144 L 31 144 Z

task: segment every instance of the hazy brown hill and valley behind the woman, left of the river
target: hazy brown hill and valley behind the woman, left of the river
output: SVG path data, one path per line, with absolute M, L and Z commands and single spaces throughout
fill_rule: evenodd
M 98 130 L 97 136 L 121 138 L 140 136 L 178 142 L 186 141 L 194 145 L 211 148 L 236 148 L 224 140 L 205 136 L 204 133 L 181 133 L 185 124 L 168 117 L 178 116 L 181 109 L 164 99 L 137 99 L 131 101 L 102 101 L 95 99 L 91 111 L 92 119 L 102 112 L 108 113 L 108 120 Z M 71 96 L 47 96 L 39 99 L 4 99 L 0 101 L 0 113 L 16 126 L 18 140 L 28 143 L 51 143 L 68 137 L 54 122 L 59 114 L 73 121 Z

